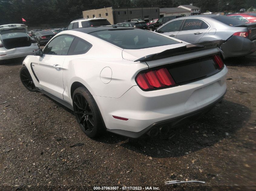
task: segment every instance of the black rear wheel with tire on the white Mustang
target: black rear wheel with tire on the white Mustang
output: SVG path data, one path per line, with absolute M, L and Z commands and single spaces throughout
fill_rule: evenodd
M 74 91 L 72 100 L 75 117 L 82 131 L 90 138 L 99 136 L 104 127 L 91 93 L 86 88 L 79 87 Z

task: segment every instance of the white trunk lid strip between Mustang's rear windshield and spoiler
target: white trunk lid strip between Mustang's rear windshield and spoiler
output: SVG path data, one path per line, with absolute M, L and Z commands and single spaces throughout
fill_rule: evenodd
M 156 46 L 151 48 L 144 48 L 144 49 L 123 49 L 122 56 L 125 60 L 131 60 L 135 61 L 137 59 L 140 59 L 144 56 L 148 56 L 155 53 L 161 53 L 168 49 L 174 49 L 181 46 L 186 46 L 188 43 L 179 43 L 179 44 L 171 44 L 171 45 L 165 45 L 165 46 Z

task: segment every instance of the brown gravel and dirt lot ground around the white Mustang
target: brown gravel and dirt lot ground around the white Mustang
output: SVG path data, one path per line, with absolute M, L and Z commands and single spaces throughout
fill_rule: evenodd
M 86 137 L 71 110 L 22 86 L 21 59 L 0 65 L 0 190 L 256 190 L 256 53 L 225 63 L 221 104 L 169 135 L 139 141 Z

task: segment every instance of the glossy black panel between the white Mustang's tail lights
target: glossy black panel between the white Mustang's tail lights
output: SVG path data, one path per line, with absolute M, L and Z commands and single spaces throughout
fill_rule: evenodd
M 167 66 L 167 69 L 178 85 L 191 83 L 220 72 L 213 56 L 175 63 Z

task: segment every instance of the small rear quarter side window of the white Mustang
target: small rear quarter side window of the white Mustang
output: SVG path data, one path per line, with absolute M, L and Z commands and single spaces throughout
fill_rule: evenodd
M 70 46 L 70 49 L 68 51 L 68 55 L 77 55 L 77 54 L 85 54 L 90 48 L 91 48 L 91 44 L 75 38 L 73 43 Z

